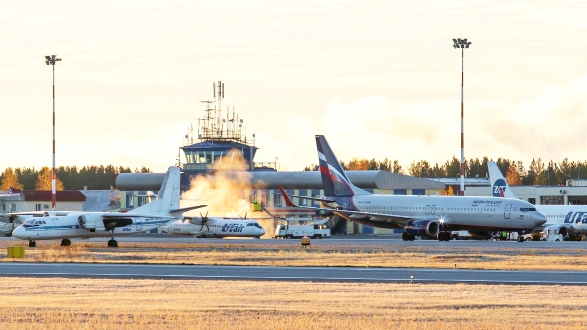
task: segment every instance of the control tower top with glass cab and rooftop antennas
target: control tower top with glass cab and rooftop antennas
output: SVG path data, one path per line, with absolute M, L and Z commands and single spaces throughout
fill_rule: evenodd
M 234 107 L 227 107 L 222 115 L 224 83 L 214 83 L 214 100 L 201 101 L 205 105 L 205 116 L 198 118 L 197 130 L 188 127 L 183 147 L 177 156 L 187 179 L 215 171 L 276 171 L 275 162 L 255 163 L 255 134 L 247 139 L 244 120 L 239 118 Z M 181 152 L 185 163 L 181 163 Z

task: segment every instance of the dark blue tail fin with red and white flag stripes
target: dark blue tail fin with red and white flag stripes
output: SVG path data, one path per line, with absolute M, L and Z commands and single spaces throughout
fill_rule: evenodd
M 318 163 L 322 174 L 325 196 L 353 196 L 369 194 L 352 184 L 323 135 L 316 135 Z

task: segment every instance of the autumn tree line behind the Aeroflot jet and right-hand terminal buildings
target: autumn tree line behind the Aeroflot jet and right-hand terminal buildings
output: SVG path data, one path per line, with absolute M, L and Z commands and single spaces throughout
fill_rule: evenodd
M 465 160 L 465 175 L 488 177 L 487 161 L 489 160 L 487 157 Z M 511 185 L 559 185 L 565 184 L 567 179 L 587 179 L 587 160 L 569 161 L 565 158 L 558 163 L 550 160 L 547 164 L 538 158 L 532 159 L 529 167 L 525 167 L 522 161 L 500 157 L 495 160 L 495 163 Z M 455 156 L 444 164 L 436 163 L 434 166 L 426 160 L 414 160 L 408 167 L 407 173 L 399 165 L 399 161 L 387 158 L 382 161 L 353 158 L 348 162 L 340 161 L 340 165 L 347 171 L 384 170 L 414 177 L 460 177 L 461 173 L 461 161 Z M 313 171 L 317 167 L 312 164 L 304 170 Z

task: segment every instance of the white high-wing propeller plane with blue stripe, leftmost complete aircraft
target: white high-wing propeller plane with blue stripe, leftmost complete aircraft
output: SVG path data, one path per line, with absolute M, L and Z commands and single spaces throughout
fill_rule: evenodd
M 61 240 L 69 246 L 70 238 L 108 237 L 108 247 L 118 247 L 114 236 L 142 233 L 178 220 L 185 211 L 194 206 L 180 208 L 180 169 L 171 166 L 167 170 L 159 196 L 151 203 L 121 212 L 48 212 L 44 217 L 29 218 L 15 228 L 12 235 L 28 240 L 29 247 L 36 246 L 36 240 Z M 22 216 L 24 213 L 18 213 Z M 11 216 L 13 214 L 6 214 Z M 36 215 L 36 213 L 33 213 Z

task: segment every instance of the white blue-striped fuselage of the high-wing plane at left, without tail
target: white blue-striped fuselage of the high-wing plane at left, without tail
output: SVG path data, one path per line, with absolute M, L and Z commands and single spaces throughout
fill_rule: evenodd
M 128 214 L 131 224 L 114 228 L 114 236 L 143 233 L 176 219 L 133 217 Z M 12 235 L 21 240 L 60 240 L 65 238 L 110 237 L 110 231 L 90 231 L 80 226 L 78 214 L 58 217 L 34 217 L 15 228 Z

